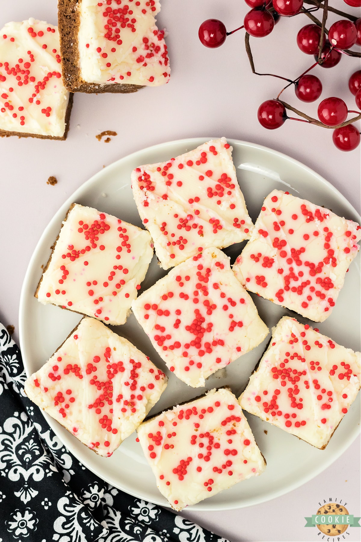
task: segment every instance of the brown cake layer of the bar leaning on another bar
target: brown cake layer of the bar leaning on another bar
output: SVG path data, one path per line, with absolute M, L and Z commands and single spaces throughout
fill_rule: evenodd
M 63 83 L 70 92 L 136 92 L 140 85 L 113 83 L 99 85 L 87 83 L 81 76 L 79 67 L 78 31 L 80 28 L 79 5 L 82 0 L 58 0 L 58 29 L 60 53 L 62 58 Z

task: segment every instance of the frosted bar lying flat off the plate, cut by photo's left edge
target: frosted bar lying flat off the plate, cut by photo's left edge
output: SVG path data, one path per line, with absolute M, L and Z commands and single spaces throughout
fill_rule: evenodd
M 0 30 L 0 137 L 65 139 L 73 95 L 62 81 L 57 27 L 29 19 Z

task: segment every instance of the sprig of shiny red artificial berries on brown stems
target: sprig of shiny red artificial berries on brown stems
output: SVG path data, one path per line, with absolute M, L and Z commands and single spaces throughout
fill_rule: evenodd
M 206 47 L 220 47 L 227 36 L 234 34 L 241 28 L 245 28 L 245 47 L 252 72 L 256 75 L 273 76 L 288 82 L 288 85 L 278 94 L 277 99 L 266 100 L 260 105 L 258 109 L 260 124 L 269 130 L 274 130 L 282 126 L 285 120 L 291 119 L 308 122 L 323 128 L 332 128 L 334 130 L 333 143 L 338 149 L 343 151 L 355 149 L 360 143 L 360 133 L 352 122 L 361 119 L 361 113 L 349 110 L 343 100 L 331 96 L 321 101 L 318 106 L 319 120 L 317 120 L 280 100 L 279 96 L 287 87 L 294 85 L 296 96 L 301 101 L 312 102 L 317 100 L 322 92 L 322 83 L 315 75 L 308 72 L 317 65 L 323 68 L 336 66 L 341 60 L 342 54 L 361 56 L 358 51 L 350 49 L 355 44 L 361 44 L 361 18 L 357 19 L 343 11 L 332 8 L 329 6 L 328 0 L 323 2 L 318 0 L 245 0 L 245 2 L 252 9 L 246 14 L 244 24 L 241 27 L 232 30 L 232 32 L 227 32 L 224 23 L 216 19 L 208 19 L 200 25 L 199 37 Z M 345 3 L 349 2 L 361 5 L 361 0 L 347 0 L 347 2 L 345 0 Z M 313 5 L 313 9 L 305 9 L 304 3 Z M 322 22 L 311 13 L 311 11 L 318 9 L 323 9 Z M 337 21 L 327 30 L 326 21 L 329 11 L 342 15 L 347 20 Z M 272 32 L 274 24 L 280 16 L 290 17 L 299 13 L 304 13 L 310 17 L 314 24 L 307 24 L 299 30 L 297 35 L 298 47 L 304 53 L 314 55 L 316 62 L 294 80 L 271 73 L 256 72 L 250 47 L 250 35 L 254 37 L 267 36 Z M 328 39 L 326 39 L 326 35 Z M 350 91 L 355 95 L 356 105 L 359 109 L 361 108 L 360 87 L 361 70 L 355 72 L 349 81 Z M 293 111 L 301 118 L 288 117 L 286 109 Z M 349 113 L 358 114 L 357 117 L 346 120 Z

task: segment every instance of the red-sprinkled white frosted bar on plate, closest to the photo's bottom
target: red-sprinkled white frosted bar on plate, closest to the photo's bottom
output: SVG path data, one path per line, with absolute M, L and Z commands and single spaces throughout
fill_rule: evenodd
M 159 491 L 175 510 L 264 472 L 266 462 L 228 389 L 142 423 L 138 438 Z

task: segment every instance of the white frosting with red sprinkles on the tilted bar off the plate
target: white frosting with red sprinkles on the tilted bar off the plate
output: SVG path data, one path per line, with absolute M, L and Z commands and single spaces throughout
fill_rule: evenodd
M 159 86 L 169 81 L 164 31 L 156 0 L 81 0 L 78 50 L 88 83 Z

